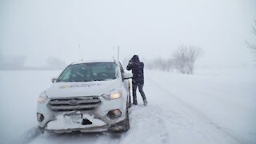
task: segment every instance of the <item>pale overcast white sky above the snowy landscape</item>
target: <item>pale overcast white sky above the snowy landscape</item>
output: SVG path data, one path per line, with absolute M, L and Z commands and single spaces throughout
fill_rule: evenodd
M 118 45 L 121 60 L 167 58 L 184 44 L 202 48 L 201 66 L 249 65 L 254 19 L 255 0 L 1 0 L 0 52 L 43 66 L 112 58 Z

